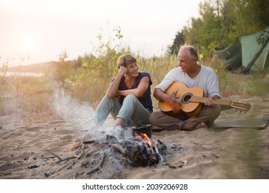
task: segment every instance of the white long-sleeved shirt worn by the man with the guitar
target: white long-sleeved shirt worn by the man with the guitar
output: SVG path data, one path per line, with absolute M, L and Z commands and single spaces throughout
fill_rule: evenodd
M 175 81 L 184 83 L 188 88 L 199 87 L 203 89 L 206 96 L 220 96 L 219 79 L 215 71 L 206 66 L 201 65 L 201 70 L 195 78 L 190 78 L 186 72 L 181 72 L 181 68 L 173 68 L 166 74 L 166 77 L 155 87 L 160 88 L 163 92 Z

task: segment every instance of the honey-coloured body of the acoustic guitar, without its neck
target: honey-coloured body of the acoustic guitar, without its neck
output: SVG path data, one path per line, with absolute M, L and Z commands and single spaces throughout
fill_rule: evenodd
M 189 101 L 192 96 L 204 96 L 203 89 L 199 87 L 188 88 L 183 83 L 175 81 L 166 89 L 165 93 L 179 96 L 179 100 L 181 100 L 182 103 L 180 107 L 181 110 L 175 111 L 168 103 L 159 101 L 159 109 L 166 114 L 175 115 L 183 111 L 185 114 L 188 114 L 188 116 L 195 116 L 199 114 L 203 108 L 203 103 Z

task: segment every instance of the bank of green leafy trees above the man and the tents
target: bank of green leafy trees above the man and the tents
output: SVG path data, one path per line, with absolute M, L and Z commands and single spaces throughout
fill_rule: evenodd
M 269 26 L 266 0 L 208 0 L 199 8 L 200 17 L 192 18 L 190 27 L 184 26 L 181 34 L 203 57 L 211 57 L 212 48 L 226 48 L 236 38 Z

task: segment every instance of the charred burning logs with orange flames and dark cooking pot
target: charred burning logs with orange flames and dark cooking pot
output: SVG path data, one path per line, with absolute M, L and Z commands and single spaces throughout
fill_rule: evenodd
M 166 149 L 161 141 L 150 139 L 151 125 L 141 125 L 132 128 L 132 135 L 128 139 L 117 139 L 116 136 L 107 134 L 105 141 L 94 140 L 94 143 L 108 145 L 114 152 L 123 154 L 135 167 L 164 164 L 161 154 Z M 93 141 L 83 141 L 92 143 Z

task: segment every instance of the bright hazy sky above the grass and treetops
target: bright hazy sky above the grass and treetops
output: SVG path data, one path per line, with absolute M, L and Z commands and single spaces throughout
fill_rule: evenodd
M 0 66 L 58 61 L 92 53 L 121 28 L 121 44 L 143 57 L 161 56 L 183 26 L 199 17 L 201 0 L 0 0 Z M 14 64 L 16 65 L 16 63 Z

